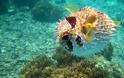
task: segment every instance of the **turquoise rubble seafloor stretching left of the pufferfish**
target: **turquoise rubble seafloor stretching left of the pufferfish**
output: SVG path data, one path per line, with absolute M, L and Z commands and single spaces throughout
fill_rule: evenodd
M 32 20 L 30 13 L 0 16 L 0 78 L 14 78 L 20 68 L 55 48 L 55 24 Z

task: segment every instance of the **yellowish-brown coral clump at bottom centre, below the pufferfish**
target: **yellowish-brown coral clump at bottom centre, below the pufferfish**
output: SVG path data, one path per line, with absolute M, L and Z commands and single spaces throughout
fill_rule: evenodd
M 58 68 L 51 74 L 51 78 L 108 78 L 107 72 L 95 68 L 89 62 L 82 60 L 71 66 Z

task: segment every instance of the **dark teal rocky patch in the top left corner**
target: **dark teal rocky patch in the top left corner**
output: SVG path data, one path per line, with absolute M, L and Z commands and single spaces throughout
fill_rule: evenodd
M 39 0 L 0 0 L 0 14 L 16 12 L 16 9 L 30 9 Z

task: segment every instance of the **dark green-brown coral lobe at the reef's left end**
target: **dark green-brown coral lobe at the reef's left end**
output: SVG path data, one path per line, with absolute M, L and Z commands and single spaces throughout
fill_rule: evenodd
M 25 66 L 21 71 L 20 78 L 47 78 L 48 75 L 42 70 L 51 65 L 53 65 L 53 62 L 46 55 L 38 56 Z

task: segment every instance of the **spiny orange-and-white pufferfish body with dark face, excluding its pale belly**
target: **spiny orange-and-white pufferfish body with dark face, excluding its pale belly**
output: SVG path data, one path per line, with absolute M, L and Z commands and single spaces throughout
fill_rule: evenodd
M 105 13 L 84 7 L 60 20 L 57 27 L 57 41 L 68 51 L 73 51 L 74 45 L 82 47 L 87 42 L 109 38 L 115 30 L 116 24 Z

